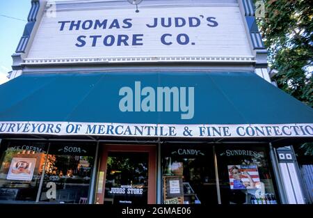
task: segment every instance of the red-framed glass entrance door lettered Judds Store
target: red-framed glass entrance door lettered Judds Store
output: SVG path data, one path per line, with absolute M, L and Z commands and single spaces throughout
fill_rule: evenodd
M 104 145 L 101 168 L 98 180 L 101 193 L 98 193 L 97 203 L 155 203 L 154 146 Z

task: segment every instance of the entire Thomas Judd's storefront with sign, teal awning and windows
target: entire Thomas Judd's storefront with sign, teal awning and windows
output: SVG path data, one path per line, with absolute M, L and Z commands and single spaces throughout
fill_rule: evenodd
M 307 203 L 250 0 L 32 0 L 0 86 L 0 203 Z

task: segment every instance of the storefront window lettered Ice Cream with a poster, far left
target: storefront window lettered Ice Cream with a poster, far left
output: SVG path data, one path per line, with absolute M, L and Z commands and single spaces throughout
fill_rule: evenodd
M 0 148 L 0 201 L 36 201 L 47 143 L 6 141 Z

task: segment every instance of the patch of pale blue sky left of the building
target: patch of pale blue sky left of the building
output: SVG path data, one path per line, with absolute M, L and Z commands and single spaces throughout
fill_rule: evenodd
M 0 84 L 7 80 L 7 72 L 12 70 L 11 55 L 23 34 L 30 9 L 31 0 L 0 1 Z

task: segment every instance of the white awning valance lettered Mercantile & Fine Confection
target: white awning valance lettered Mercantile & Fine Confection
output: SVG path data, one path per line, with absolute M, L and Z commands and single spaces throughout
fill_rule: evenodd
M 313 124 L 157 125 L 141 123 L 0 122 L 0 134 L 171 138 L 313 137 Z

